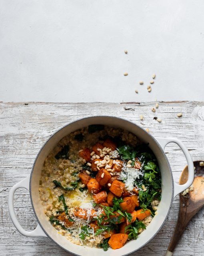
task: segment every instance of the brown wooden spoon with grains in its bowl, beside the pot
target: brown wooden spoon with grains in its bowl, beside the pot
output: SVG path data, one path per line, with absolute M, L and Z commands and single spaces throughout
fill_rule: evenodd
M 172 240 L 168 246 L 165 256 L 171 256 L 173 251 L 181 238 L 188 222 L 191 218 L 204 206 L 204 166 L 200 166 L 200 162 L 204 161 L 194 161 L 195 178 L 192 183 L 194 189 L 182 196 L 180 196 L 180 206 L 178 220 Z M 188 180 L 188 166 L 184 168 L 179 179 L 179 184 L 185 184 Z

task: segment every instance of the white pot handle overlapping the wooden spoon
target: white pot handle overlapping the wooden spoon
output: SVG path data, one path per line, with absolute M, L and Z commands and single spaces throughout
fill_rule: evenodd
M 178 140 L 177 138 L 157 138 L 159 144 L 162 146 L 163 150 L 166 147 L 166 145 L 170 142 L 176 143 L 181 150 L 184 153 L 184 156 L 186 157 L 187 164 L 188 164 L 188 180 L 185 184 L 179 185 L 176 182 L 174 182 L 174 197 L 178 195 L 180 192 L 185 190 L 186 188 L 189 188 L 190 185 L 193 183 L 194 180 L 194 165 L 193 160 L 190 156 L 190 153 L 188 152 L 188 149 L 186 146 L 184 146 L 183 142 Z

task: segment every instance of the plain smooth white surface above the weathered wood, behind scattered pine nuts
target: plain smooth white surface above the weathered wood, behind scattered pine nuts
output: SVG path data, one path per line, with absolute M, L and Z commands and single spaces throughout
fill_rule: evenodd
M 0 100 L 203 100 L 203 11 L 203 0 L 0 0 Z

